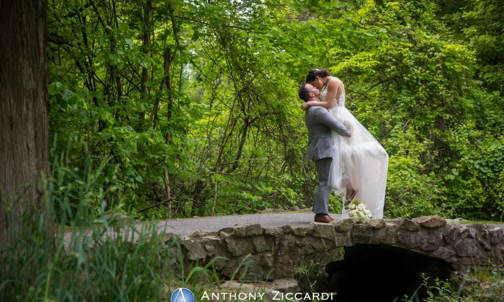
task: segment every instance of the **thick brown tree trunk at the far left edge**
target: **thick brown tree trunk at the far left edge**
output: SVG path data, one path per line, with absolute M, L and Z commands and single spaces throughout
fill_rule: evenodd
M 0 245 L 10 245 L 25 212 L 45 213 L 40 179 L 50 174 L 46 1 L 1 1 L 0 28 Z

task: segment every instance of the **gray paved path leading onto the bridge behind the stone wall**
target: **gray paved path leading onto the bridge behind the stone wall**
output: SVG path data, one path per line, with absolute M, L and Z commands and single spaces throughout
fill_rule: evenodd
M 330 215 L 335 219 L 341 216 L 341 214 Z M 164 230 L 166 225 L 166 233 L 191 235 L 197 231 L 216 232 L 236 224 L 245 223 L 260 223 L 263 228 L 274 228 L 285 224 L 308 224 L 313 221 L 314 217 L 315 215 L 311 212 L 246 214 L 159 220 L 158 225 L 160 230 Z M 141 226 L 141 222 L 137 223 L 137 228 L 138 226 Z

